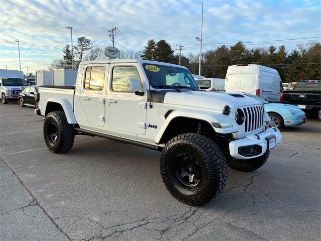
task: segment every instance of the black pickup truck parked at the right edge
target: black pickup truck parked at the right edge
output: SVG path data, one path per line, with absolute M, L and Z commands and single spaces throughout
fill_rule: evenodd
M 299 106 L 305 112 L 321 109 L 321 80 L 297 81 L 291 90 L 283 90 L 280 102 Z

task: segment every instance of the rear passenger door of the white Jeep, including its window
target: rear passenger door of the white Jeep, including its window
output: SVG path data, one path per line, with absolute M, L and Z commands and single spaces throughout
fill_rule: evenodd
M 88 65 L 84 73 L 84 84 L 81 86 L 79 101 L 87 118 L 88 128 L 103 127 L 105 123 L 106 66 L 91 67 Z

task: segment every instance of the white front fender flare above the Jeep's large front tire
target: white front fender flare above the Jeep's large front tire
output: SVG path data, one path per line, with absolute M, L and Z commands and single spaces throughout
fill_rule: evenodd
M 238 132 L 238 127 L 228 115 L 225 115 L 222 113 L 197 111 L 197 110 L 175 110 L 169 114 L 164 124 L 159 129 L 159 132 L 155 137 L 156 144 L 159 143 L 159 141 L 161 141 L 162 136 L 164 135 L 167 127 L 176 117 L 187 117 L 187 118 L 200 119 L 202 121 L 206 121 L 210 124 L 211 127 L 213 127 L 216 133 L 227 134 L 227 133 Z M 216 128 L 212 125 L 212 123 L 226 123 L 226 122 L 232 123 L 233 127 L 222 129 L 222 128 Z

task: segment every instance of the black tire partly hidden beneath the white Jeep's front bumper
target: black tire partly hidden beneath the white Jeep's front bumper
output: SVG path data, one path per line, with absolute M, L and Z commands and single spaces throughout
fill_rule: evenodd
M 241 171 L 241 172 L 252 172 L 256 169 L 259 169 L 270 156 L 270 151 L 266 151 L 262 156 L 256 157 L 248 160 L 238 160 L 234 159 L 229 163 L 229 167 Z

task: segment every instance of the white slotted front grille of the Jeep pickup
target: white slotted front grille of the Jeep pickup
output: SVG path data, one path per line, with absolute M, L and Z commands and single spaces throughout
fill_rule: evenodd
M 250 133 L 264 127 L 264 107 L 250 106 L 243 108 L 245 115 L 244 132 Z

